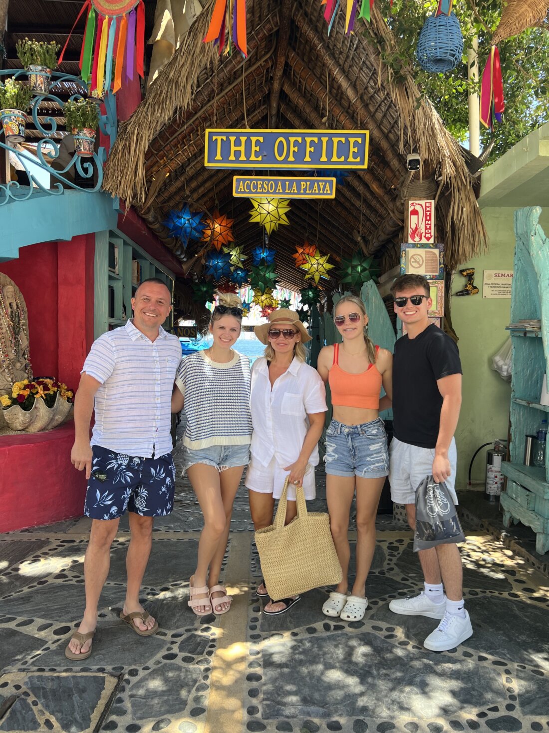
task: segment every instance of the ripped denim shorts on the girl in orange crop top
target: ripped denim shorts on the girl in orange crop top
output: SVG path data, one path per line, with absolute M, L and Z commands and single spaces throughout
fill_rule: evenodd
M 389 452 L 381 418 L 362 425 L 332 420 L 326 430 L 326 474 L 381 479 L 389 474 Z

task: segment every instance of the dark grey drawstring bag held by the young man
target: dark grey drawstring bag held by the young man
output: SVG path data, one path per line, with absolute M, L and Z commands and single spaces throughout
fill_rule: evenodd
M 414 552 L 436 545 L 465 542 L 465 534 L 446 484 L 425 476 L 416 490 Z

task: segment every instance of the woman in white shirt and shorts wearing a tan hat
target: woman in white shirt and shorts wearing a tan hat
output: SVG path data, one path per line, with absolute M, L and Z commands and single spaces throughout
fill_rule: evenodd
M 254 331 L 266 349 L 252 367 L 252 455 L 245 485 L 253 525 L 260 529 L 272 524 L 275 499 L 280 498 L 288 474 L 285 524 L 297 514 L 296 486 L 303 487 L 305 499 L 315 498 L 314 467 L 328 408 L 321 377 L 305 364 L 303 344 L 311 337 L 296 312 L 273 311 L 269 322 L 255 326 Z M 257 594 L 269 595 L 264 581 Z M 298 600 L 299 596 L 269 600 L 264 613 L 283 614 Z

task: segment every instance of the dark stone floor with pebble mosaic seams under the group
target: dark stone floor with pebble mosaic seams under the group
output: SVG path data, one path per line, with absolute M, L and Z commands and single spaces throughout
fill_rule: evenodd
M 138 637 L 118 617 L 124 524 L 93 654 L 81 663 L 64 647 L 83 606 L 88 521 L 0 537 L 0 731 L 549 731 L 549 579 L 487 531 L 469 527 L 463 545 L 474 635 L 437 654 L 422 647 L 436 622 L 388 608 L 421 587 L 411 536 L 392 517 L 378 520 L 363 621 L 323 616 L 328 589 L 264 616 L 242 488 L 225 557 L 234 607 L 199 619 L 186 601 L 201 515 L 179 481 L 143 584 L 159 633 Z M 325 508 L 321 475 L 317 508 Z

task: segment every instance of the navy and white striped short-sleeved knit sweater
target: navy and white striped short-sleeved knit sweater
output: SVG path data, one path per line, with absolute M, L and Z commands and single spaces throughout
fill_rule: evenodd
M 234 351 L 227 364 L 205 351 L 185 356 L 176 385 L 184 395 L 187 427 L 183 445 L 190 449 L 250 443 L 250 361 Z

